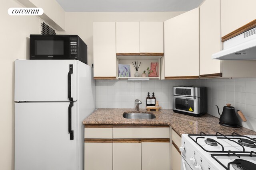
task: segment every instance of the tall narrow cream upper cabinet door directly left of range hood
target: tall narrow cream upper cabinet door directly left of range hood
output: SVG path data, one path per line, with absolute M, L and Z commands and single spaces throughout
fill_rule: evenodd
M 200 6 L 200 76 L 221 76 L 221 61 L 212 59 L 221 47 L 220 1 L 205 0 Z

